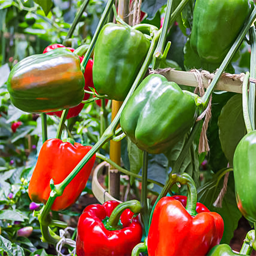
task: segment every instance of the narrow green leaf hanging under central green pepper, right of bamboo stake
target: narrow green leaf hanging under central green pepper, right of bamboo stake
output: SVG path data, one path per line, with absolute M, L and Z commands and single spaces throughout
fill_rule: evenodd
M 143 163 L 143 151 L 139 149 L 128 137 L 127 151 L 130 162 L 130 172 L 138 174 Z M 134 177 L 131 176 L 130 183 L 133 184 L 134 180 Z

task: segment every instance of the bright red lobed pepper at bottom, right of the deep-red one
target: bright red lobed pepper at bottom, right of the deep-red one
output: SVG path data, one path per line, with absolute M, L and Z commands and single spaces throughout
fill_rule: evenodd
M 224 223 L 218 213 L 202 211 L 191 216 L 180 201 L 165 196 L 153 213 L 148 255 L 203 256 L 220 243 L 223 231 Z

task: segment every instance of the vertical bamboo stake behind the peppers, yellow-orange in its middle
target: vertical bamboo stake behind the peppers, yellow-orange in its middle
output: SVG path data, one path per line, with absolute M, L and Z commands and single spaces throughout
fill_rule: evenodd
M 129 22 L 129 3 L 128 0 L 118 1 L 118 15 L 125 22 Z M 112 100 L 112 120 L 116 116 L 123 102 Z M 112 121 L 111 120 L 111 121 Z M 116 164 L 121 164 L 121 141 L 110 140 L 109 157 Z M 113 166 L 110 166 L 108 172 L 108 189 L 109 194 L 116 199 L 120 198 L 120 173 Z

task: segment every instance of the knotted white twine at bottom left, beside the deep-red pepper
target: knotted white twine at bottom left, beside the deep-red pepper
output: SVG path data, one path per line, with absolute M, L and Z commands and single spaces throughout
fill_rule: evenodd
M 60 256 L 60 255 L 61 256 L 72 256 L 72 255 L 75 256 L 76 255 L 76 241 L 70 239 L 70 234 L 69 234 L 68 230 L 75 231 L 75 228 L 67 227 L 64 230 L 60 229 L 60 241 L 56 245 L 56 251 L 58 252 L 58 256 Z M 68 244 L 74 248 L 71 253 L 63 254 L 61 252 L 62 246 L 64 244 Z

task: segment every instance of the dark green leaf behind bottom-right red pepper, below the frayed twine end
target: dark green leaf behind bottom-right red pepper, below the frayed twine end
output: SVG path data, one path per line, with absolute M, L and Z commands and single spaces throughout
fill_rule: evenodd
M 221 172 L 217 172 L 211 181 L 197 190 L 197 201 L 204 204 L 212 212 L 218 212 L 224 221 L 224 233 L 221 243 L 229 244 L 230 239 L 234 236 L 234 230 L 237 228 L 238 220 L 242 217 L 241 212 L 236 205 L 235 182 L 233 172 L 229 173 L 228 186 L 225 196 L 223 197 L 222 207 L 213 206 L 221 188 L 223 187 L 223 177 L 217 184 Z

